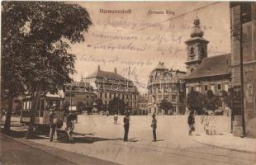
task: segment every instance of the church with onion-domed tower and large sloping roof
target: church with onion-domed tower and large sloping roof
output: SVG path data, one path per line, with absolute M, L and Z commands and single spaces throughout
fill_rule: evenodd
M 187 45 L 186 93 L 191 91 L 205 93 L 211 90 L 214 94 L 221 96 L 223 91 L 228 92 L 230 88 L 230 54 L 207 57 L 209 41 L 204 39 L 203 35 L 200 20 L 196 17 L 191 38 L 185 42 Z

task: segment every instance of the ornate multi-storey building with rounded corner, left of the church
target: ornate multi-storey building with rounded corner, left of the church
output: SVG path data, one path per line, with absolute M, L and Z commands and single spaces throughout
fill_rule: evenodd
M 149 75 L 148 108 L 149 114 L 183 114 L 185 112 L 185 72 L 165 68 L 164 63 L 159 65 Z M 160 109 L 161 101 L 172 103 L 172 108 L 166 112 Z

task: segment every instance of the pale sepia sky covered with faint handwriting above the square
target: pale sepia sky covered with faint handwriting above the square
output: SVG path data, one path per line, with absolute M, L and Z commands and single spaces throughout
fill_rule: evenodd
M 74 80 L 97 71 L 114 71 L 140 84 L 164 62 L 166 68 L 186 71 L 185 41 L 190 39 L 193 20 L 201 21 L 209 40 L 208 56 L 230 53 L 229 2 L 75 2 L 85 7 L 92 26 L 85 41 L 71 45 L 76 54 Z M 100 13 L 104 10 L 131 10 L 131 13 Z M 166 13 L 168 11 L 168 14 Z M 154 12 L 154 13 L 152 13 Z M 156 12 L 164 12 L 157 14 Z M 138 87 L 146 92 L 145 86 Z

